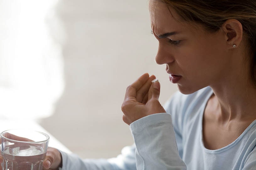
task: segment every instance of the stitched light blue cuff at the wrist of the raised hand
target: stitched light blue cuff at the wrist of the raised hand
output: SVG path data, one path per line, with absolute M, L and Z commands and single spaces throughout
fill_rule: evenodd
M 156 113 L 149 116 L 142 117 L 130 124 L 131 131 L 137 131 L 144 127 L 150 126 L 156 123 L 172 123 L 172 116 L 168 113 Z

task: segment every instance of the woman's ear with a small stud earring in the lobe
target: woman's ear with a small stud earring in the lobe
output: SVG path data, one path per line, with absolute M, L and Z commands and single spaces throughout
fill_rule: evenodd
M 242 24 L 236 19 L 228 19 L 225 23 L 222 24 L 221 28 L 226 35 L 226 42 L 230 49 L 234 48 L 234 44 L 236 47 L 238 47 L 242 42 Z

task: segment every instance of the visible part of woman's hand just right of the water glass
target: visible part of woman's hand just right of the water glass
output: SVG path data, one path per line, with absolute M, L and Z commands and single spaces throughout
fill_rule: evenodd
M 61 153 L 56 148 L 48 147 L 46 157 L 43 162 L 43 170 L 57 170 L 61 164 Z

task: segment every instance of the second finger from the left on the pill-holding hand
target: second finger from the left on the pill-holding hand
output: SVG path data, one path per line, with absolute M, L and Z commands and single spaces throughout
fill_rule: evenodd
M 146 98 L 147 98 L 147 94 L 148 94 L 148 91 L 149 91 L 149 88 L 152 84 L 152 80 L 155 79 L 155 75 L 151 75 L 149 77 L 149 79 L 144 83 L 144 85 L 142 85 L 142 87 L 137 91 L 137 94 L 136 94 L 136 99 L 138 102 L 140 103 L 143 103 L 142 101 L 145 101 Z M 144 99 L 145 97 L 145 99 Z

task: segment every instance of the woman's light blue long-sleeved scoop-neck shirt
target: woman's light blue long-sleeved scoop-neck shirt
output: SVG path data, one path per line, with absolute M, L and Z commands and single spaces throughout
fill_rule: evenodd
M 212 93 L 210 87 L 190 95 L 175 93 L 165 105 L 167 113 L 130 125 L 135 144 L 119 156 L 82 160 L 61 152 L 63 170 L 256 170 L 256 121 L 226 147 L 204 147 L 202 118 Z

